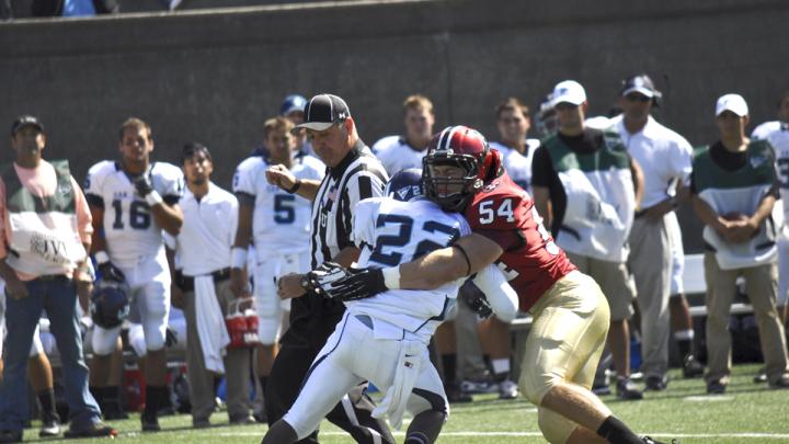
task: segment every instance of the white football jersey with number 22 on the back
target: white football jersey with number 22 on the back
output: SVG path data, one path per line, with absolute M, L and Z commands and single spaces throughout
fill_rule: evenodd
M 444 213 L 430 201 L 373 197 L 356 204 L 354 212 L 353 240 L 362 250 L 361 267 L 397 266 L 448 247 L 470 232 L 462 215 Z M 374 322 L 382 320 L 430 341 L 446 310 L 455 304 L 464 281 L 430 291 L 390 289 L 345 305 L 352 315 L 367 315 Z

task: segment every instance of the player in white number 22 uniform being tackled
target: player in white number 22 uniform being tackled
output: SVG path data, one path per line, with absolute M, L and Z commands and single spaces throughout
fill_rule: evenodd
M 420 180 L 419 170 L 404 170 L 389 181 L 386 194 L 390 197 L 371 197 L 356 205 L 353 239 L 362 250 L 359 266 L 397 265 L 470 232 L 461 215 L 444 213 L 421 198 Z M 331 278 L 321 270 L 310 273 L 321 275 Z M 347 310 L 313 362 L 298 399 L 272 424 L 262 444 L 293 443 L 307 436 L 347 390 L 365 380 L 385 394 L 373 411 L 375 418 L 387 414 L 399 429 L 408 409 L 414 418 L 404 443 L 434 443 L 449 407 L 427 344 L 454 309 L 464 281 L 433 291 L 396 289 L 346 300 Z M 498 267 L 481 271 L 474 283 L 495 294 L 490 299 L 494 311 L 515 316 L 517 296 Z

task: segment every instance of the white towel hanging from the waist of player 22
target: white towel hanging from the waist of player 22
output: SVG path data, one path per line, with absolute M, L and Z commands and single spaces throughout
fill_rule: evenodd
M 373 418 L 389 415 L 389 423 L 395 430 L 402 426 L 402 417 L 405 413 L 405 406 L 416 384 L 420 367 L 425 355 L 425 345 L 420 341 L 401 341 L 400 356 L 398 356 L 395 380 L 387 390 L 384 399 L 373 410 Z

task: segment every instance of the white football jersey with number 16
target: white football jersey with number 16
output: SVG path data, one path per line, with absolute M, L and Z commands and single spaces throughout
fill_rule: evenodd
M 149 174 L 153 190 L 164 202 L 178 203 L 184 190 L 181 169 L 170 163 L 153 162 Z M 156 257 L 164 248 L 161 227 L 118 162 L 104 160 L 91 167 L 85 178 L 84 194 L 89 204 L 104 208 L 104 238 L 113 262 L 134 266 L 144 258 Z

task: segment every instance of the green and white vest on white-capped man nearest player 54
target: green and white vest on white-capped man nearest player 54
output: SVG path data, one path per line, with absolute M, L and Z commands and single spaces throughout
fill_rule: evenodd
M 614 132 L 590 153 L 573 151 L 558 136 L 544 143 L 567 194 L 557 243 L 565 251 L 625 262 L 636 210 L 630 156 Z

